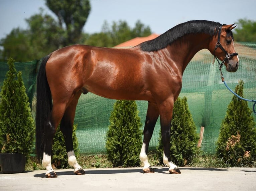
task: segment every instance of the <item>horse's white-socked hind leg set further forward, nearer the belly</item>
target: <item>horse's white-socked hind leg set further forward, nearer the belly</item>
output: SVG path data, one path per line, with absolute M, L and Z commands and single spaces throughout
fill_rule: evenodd
M 68 154 L 68 163 L 70 166 L 73 166 L 73 168 L 75 169 L 74 173 L 78 175 L 85 174 L 85 171 L 77 163 L 77 159 L 74 152 L 72 134 L 73 134 L 73 123 L 75 119 L 76 106 L 77 106 L 78 98 L 80 97 L 80 95 L 81 95 L 81 92 L 78 92 L 75 95 L 75 98 L 69 104 L 60 122 L 60 130 L 63 133 L 63 136 L 65 137 L 65 145 L 66 145 L 67 154 Z

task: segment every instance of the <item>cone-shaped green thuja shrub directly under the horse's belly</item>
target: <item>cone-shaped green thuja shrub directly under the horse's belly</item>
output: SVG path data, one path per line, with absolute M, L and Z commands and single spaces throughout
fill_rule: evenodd
M 113 166 L 136 166 L 140 164 L 142 130 L 135 101 L 117 100 L 110 115 L 106 135 L 108 159 Z

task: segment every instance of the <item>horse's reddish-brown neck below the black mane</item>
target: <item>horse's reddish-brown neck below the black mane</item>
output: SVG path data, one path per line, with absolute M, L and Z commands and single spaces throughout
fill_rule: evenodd
M 191 34 L 182 37 L 167 47 L 171 59 L 181 67 L 182 74 L 191 59 L 202 49 L 209 50 L 211 37 L 206 34 Z

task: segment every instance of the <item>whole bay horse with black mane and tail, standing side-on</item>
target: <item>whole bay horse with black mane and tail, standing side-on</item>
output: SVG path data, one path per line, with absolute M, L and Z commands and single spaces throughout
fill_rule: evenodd
M 51 166 L 51 149 L 59 123 L 69 165 L 75 174 L 85 174 L 74 154 L 72 128 L 78 99 L 88 92 L 111 99 L 147 100 L 139 155 L 142 170 L 154 172 L 147 153 L 160 116 L 163 162 L 170 173 L 180 174 L 170 160 L 169 142 L 173 103 L 181 91 L 182 74 L 202 49 L 221 60 L 228 72 L 236 72 L 239 59 L 231 31 L 235 27 L 188 21 L 129 49 L 71 45 L 46 56 L 38 71 L 36 102 L 36 154 L 46 168 L 46 177 L 57 177 Z

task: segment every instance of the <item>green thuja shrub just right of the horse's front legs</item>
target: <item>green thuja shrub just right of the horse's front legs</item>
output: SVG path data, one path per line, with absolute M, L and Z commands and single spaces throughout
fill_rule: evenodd
M 197 143 L 199 134 L 189 111 L 187 98 L 177 98 L 173 106 L 173 115 L 170 127 L 170 157 L 171 161 L 178 166 L 189 164 L 195 152 L 198 150 Z M 156 147 L 159 161 L 163 161 L 163 140 L 161 130 Z

